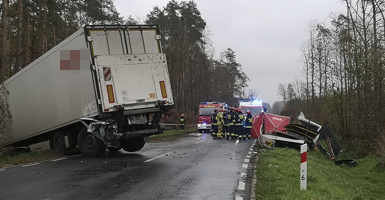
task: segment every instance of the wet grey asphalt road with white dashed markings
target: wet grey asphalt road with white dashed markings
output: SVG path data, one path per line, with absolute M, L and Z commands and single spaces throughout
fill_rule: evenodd
M 134 153 L 0 169 L 0 199 L 249 199 L 252 143 L 192 133 Z

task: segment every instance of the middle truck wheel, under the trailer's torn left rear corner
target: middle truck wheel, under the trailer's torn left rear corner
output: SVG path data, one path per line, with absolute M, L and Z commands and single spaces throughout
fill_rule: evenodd
M 86 157 L 95 157 L 100 153 L 103 142 L 87 132 L 87 129 L 84 127 L 77 136 L 77 145 L 81 154 Z

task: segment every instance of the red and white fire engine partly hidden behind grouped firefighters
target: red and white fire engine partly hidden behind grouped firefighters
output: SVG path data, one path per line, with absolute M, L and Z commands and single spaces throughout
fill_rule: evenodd
M 214 112 L 214 109 L 221 108 L 224 106 L 224 103 L 219 102 L 201 102 L 199 104 L 199 114 L 198 114 L 198 130 L 199 132 L 208 132 L 211 130 L 211 115 Z

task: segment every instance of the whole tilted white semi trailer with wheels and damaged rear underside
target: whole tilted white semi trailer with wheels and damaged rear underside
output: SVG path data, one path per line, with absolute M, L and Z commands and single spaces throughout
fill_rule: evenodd
M 3 146 L 140 150 L 173 105 L 157 25 L 86 25 L 4 82 Z

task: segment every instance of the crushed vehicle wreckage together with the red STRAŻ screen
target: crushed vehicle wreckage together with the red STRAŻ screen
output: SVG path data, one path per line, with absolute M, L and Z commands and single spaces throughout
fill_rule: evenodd
M 260 112 L 253 117 L 251 136 L 259 140 L 259 144 L 266 148 L 274 148 L 276 143 L 299 146 L 307 142 L 308 147 L 319 149 L 321 153 L 329 156 L 335 164 L 345 163 L 347 166 L 355 166 L 356 161 L 335 160 L 342 151 L 342 144 L 339 142 L 327 121 L 319 125 L 306 119 L 302 112 L 299 112 L 298 123 L 290 123 L 290 117 Z M 327 145 L 324 148 L 320 141 Z

